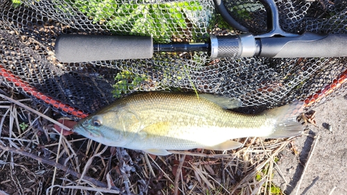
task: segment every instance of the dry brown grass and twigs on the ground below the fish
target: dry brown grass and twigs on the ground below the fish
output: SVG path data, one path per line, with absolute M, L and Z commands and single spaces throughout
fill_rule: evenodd
M 7 96 L 0 97 L 0 194 L 271 194 L 278 153 L 291 141 L 248 138 L 226 153 L 153 156 L 62 136 L 51 110 Z M 19 112 L 28 113 L 27 122 Z

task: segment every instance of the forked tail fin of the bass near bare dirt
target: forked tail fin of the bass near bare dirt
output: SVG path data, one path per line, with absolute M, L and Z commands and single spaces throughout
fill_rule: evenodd
M 301 101 L 283 105 L 272 110 L 267 110 L 267 115 L 276 117 L 276 124 L 272 134 L 264 138 L 283 138 L 300 135 L 303 132 L 303 125 L 298 123 L 297 117 L 303 112 L 304 103 Z

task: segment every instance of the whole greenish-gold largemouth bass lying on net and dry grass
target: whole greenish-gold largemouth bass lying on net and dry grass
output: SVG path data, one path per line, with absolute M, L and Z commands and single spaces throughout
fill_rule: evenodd
M 224 151 L 242 146 L 230 139 L 291 137 L 303 131 L 296 121 L 303 103 L 291 103 L 260 115 L 226 110 L 238 103 L 212 94 L 133 94 L 81 119 L 73 131 L 108 146 L 155 155 L 196 148 Z

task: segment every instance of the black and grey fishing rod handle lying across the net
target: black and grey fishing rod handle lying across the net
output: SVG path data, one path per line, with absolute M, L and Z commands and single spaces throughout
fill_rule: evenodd
M 208 42 L 153 44 L 152 37 L 113 35 L 60 35 L 56 40 L 56 57 L 61 62 L 87 62 L 152 58 L 154 52 L 206 51 L 210 58 L 328 58 L 347 56 L 346 34 L 301 35 L 280 28 L 279 12 L 274 0 L 262 0 L 267 12 L 268 32 L 260 35 L 210 35 Z M 247 32 L 228 14 L 223 1 L 214 0 L 222 17 L 235 29 Z

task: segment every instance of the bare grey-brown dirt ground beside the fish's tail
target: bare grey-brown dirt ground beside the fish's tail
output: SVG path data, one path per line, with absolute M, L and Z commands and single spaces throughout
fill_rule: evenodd
M 346 105 L 345 92 L 314 109 L 317 127 L 310 124 L 305 135 L 294 139 L 296 155 L 289 147 L 282 151 L 273 182 L 285 194 L 347 194 Z

